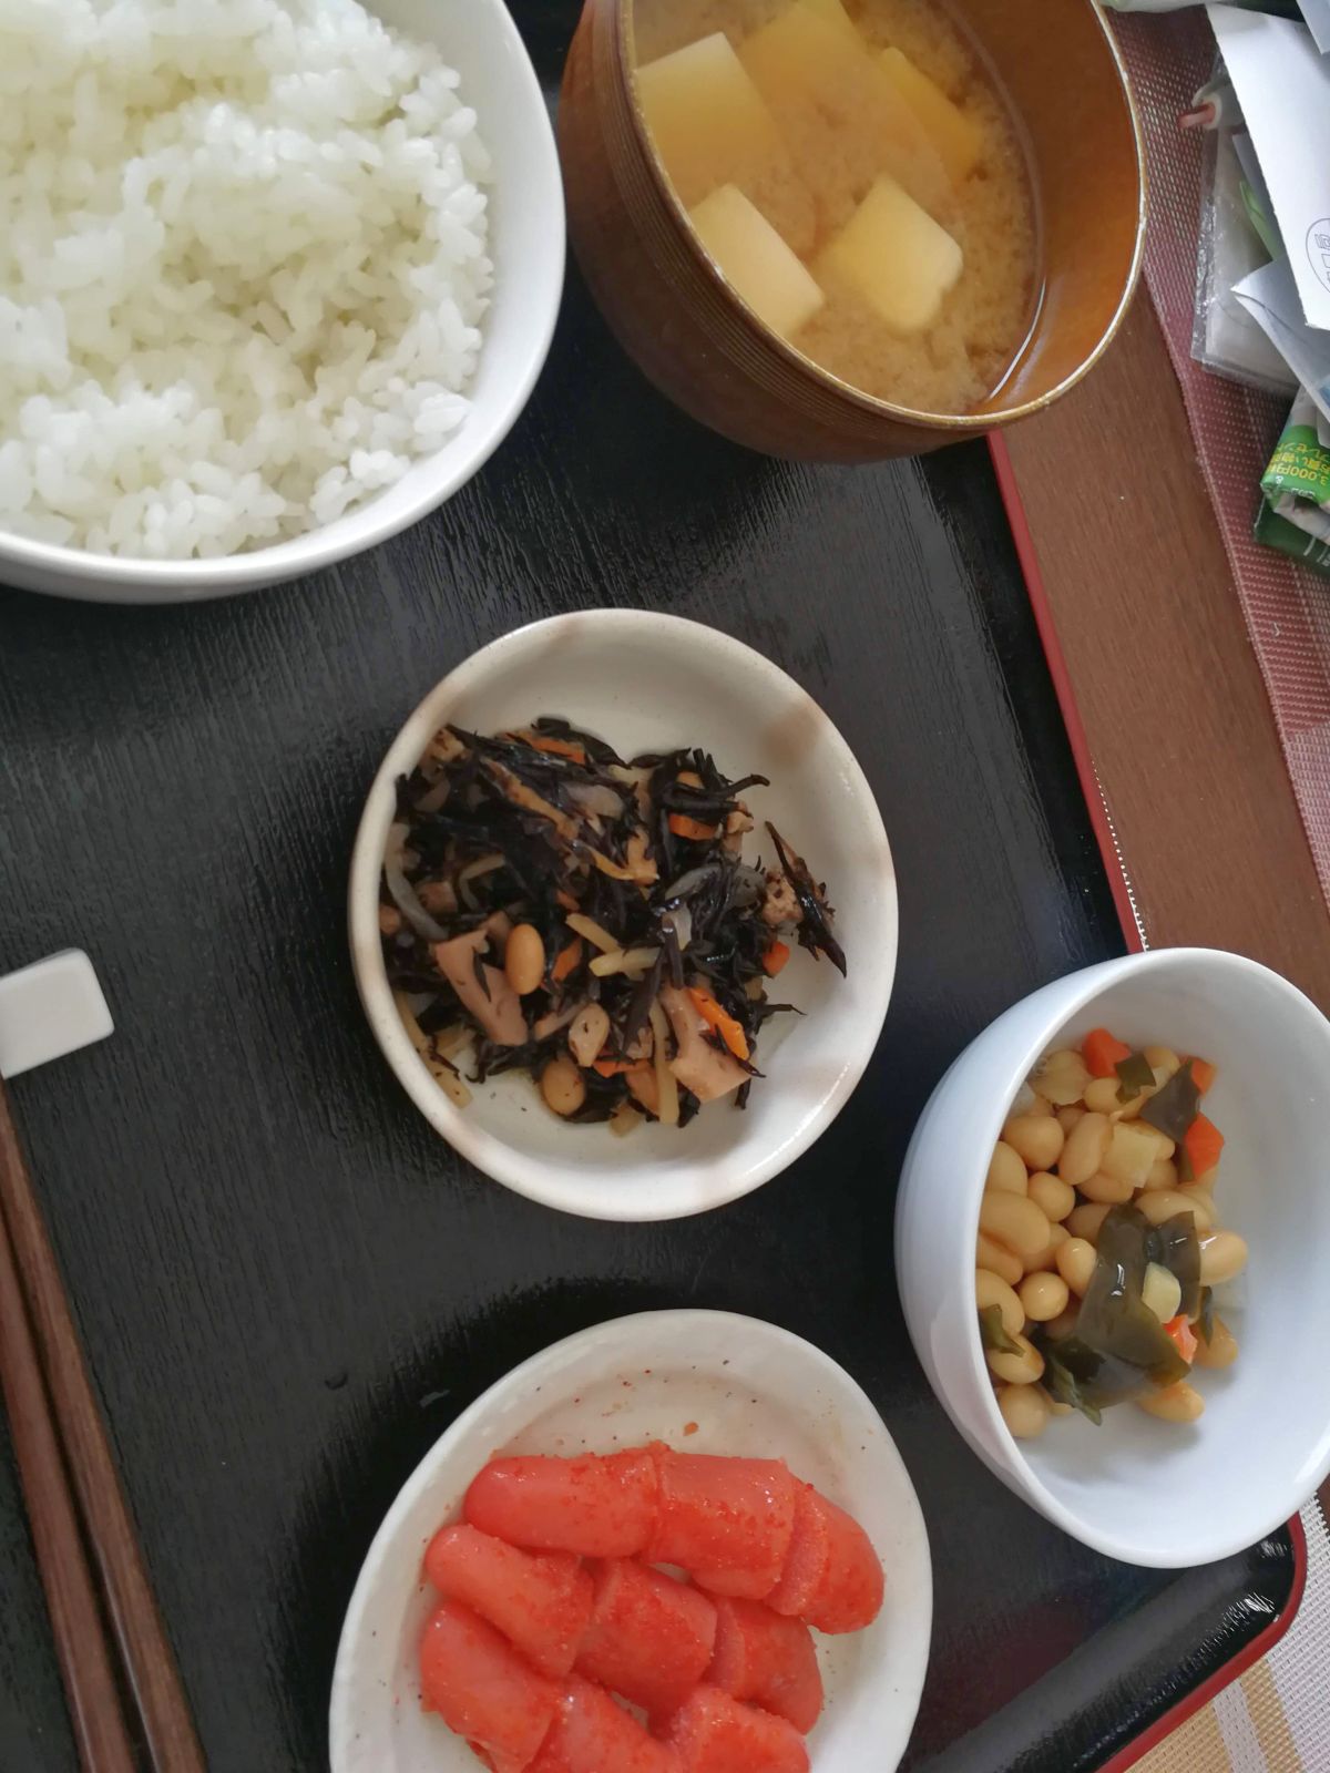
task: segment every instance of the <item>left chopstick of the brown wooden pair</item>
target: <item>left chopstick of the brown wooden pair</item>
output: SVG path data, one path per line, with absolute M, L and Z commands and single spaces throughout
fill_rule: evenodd
M 0 1381 L 55 1633 L 78 1759 L 87 1773 L 133 1773 L 101 1612 L 83 1557 L 69 1477 L 51 1425 L 14 1248 L 0 1216 Z

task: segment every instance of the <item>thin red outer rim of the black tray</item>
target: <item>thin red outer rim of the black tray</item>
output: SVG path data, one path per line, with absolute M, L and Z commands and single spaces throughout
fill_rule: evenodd
M 1103 787 L 1091 755 L 1085 723 L 1080 718 L 1076 691 L 1071 686 L 1071 674 L 1068 670 L 1066 654 L 1062 652 L 1062 642 L 1057 638 L 1053 612 L 1048 603 L 1043 573 L 1039 571 L 1039 557 L 1034 548 L 1034 535 L 1030 534 L 1030 523 L 1025 514 L 1025 502 L 1021 500 L 1016 470 L 1013 468 L 1011 452 L 1007 450 L 1007 441 L 1000 431 L 991 431 L 988 434 L 988 454 L 993 463 L 998 493 L 1002 495 L 1002 505 L 1007 514 L 1011 539 L 1016 544 L 1016 558 L 1020 560 L 1025 590 L 1030 599 L 1030 608 L 1034 610 L 1039 642 L 1044 649 L 1044 658 L 1048 660 L 1048 672 L 1053 679 L 1057 706 L 1062 713 L 1062 725 L 1066 727 L 1068 743 L 1071 745 L 1071 757 L 1076 764 L 1080 791 L 1085 798 L 1085 808 L 1091 816 L 1094 839 L 1099 846 L 1099 856 L 1103 858 L 1103 867 L 1108 876 L 1108 886 L 1114 895 L 1117 918 L 1123 926 L 1123 936 L 1126 938 L 1128 949 L 1140 954 L 1144 952 L 1146 941 L 1140 918 L 1137 915 L 1135 897 L 1131 894 L 1131 883 L 1128 879 L 1123 851 L 1117 844 L 1117 835 L 1108 817 L 1108 807 L 1105 805 Z M 1222 1693 L 1227 1686 L 1232 1686 L 1240 1675 L 1247 1674 L 1254 1663 L 1261 1661 L 1263 1656 L 1268 1656 L 1275 1644 L 1279 1644 L 1293 1624 L 1307 1589 L 1307 1534 L 1303 1532 L 1300 1516 L 1295 1514 L 1287 1523 L 1287 1528 L 1293 1541 L 1293 1587 L 1284 1610 L 1271 1619 L 1250 1644 L 1245 1644 L 1234 1656 L 1229 1658 L 1229 1661 L 1208 1675 L 1185 1699 L 1179 1699 L 1177 1704 L 1170 1706 L 1160 1718 L 1154 1720 L 1154 1723 L 1144 1729 L 1140 1736 L 1135 1736 L 1124 1748 L 1119 1748 L 1112 1759 L 1105 1761 L 1099 1773 L 1126 1773 L 1128 1768 L 1133 1768 L 1144 1755 L 1149 1753 L 1151 1748 L 1156 1748 L 1167 1736 L 1170 1736 L 1179 1725 L 1186 1723 L 1188 1718 L 1195 1716 L 1195 1713 L 1208 1706 L 1218 1693 Z

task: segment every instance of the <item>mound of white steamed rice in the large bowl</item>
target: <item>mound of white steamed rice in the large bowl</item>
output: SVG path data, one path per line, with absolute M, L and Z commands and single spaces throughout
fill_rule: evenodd
M 468 408 L 486 172 L 355 0 L 0 0 L 0 530 L 227 555 L 399 479 Z

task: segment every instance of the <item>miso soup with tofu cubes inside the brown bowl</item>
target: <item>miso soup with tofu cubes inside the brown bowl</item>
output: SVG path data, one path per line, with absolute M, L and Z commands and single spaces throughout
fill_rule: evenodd
M 637 89 L 700 243 L 759 319 L 876 399 L 965 413 L 1039 287 L 1005 99 L 933 0 L 637 0 Z

